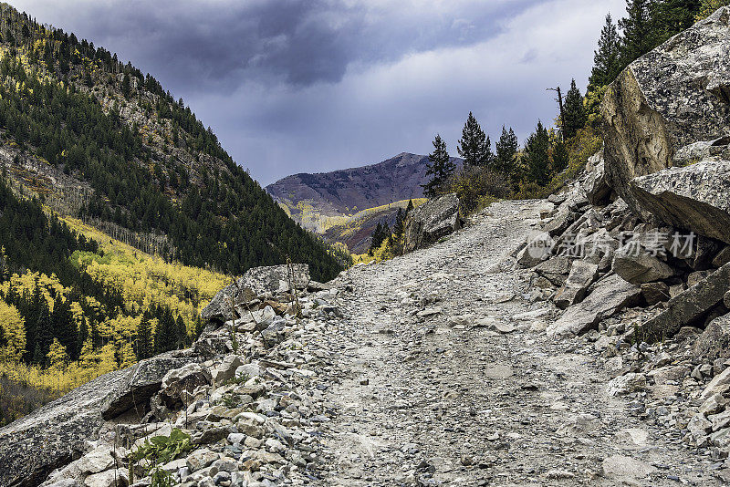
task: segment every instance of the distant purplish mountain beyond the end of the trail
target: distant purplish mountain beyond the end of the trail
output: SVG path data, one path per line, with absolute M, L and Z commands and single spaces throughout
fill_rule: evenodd
M 287 176 L 266 186 L 266 192 L 286 206 L 295 221 L 324 233 L 362 210 L 422 198 L 427 163 L 427 156 L 402 152 L 368 166 Z

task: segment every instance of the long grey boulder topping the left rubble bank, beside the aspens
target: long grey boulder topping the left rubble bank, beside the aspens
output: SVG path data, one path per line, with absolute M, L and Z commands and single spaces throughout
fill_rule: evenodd
M 204 320 L 225 322 L 236 319 L 237 306 L 241 306 L 258 295 L 287 293 L 291 287 L 297 290 L 307 289 L 309 284 L 308 264 L 292 264 L 293 272 L 287 264 L 254 267 L 245 272 L 245 275 L 235 283 L 226 285 L 214 295 L 208 306 L 205 306 L 201 317 Z

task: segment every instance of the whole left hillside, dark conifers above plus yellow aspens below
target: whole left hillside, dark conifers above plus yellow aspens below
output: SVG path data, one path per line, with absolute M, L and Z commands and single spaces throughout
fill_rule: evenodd
M 256 265 L 341 265 L 183 100 L 0 4 L 0 424 L 190 344 Z

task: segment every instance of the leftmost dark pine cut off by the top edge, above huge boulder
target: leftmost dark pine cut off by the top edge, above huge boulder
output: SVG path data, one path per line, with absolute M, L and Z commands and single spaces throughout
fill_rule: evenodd
M 620 19 L 623 33 L 620 45 L 620 68 L 651 51 L 657 45 L 657 32 L 652 21 L 656 0 L 627 0 L 627 16 Z

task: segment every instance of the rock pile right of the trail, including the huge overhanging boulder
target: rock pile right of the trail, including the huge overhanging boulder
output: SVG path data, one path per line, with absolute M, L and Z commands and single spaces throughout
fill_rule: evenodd
M 565 310 L 548 337 L 600 353 L 610 396 L 721 471 L 730 471 L 730 105 L 715 84 L 727 86 L 728 25 L 724 7 L 611 85 L 605 149 L 543 203 L 515 254 L 533 270 L 531 299 Z

